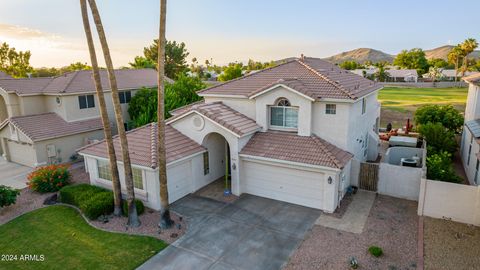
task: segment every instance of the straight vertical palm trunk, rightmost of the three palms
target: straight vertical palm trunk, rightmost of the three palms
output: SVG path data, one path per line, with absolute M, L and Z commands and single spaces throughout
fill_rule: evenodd
M 158 176 L 160 182 L 160 223 L 162 229 L 173 225 L 168 205 L 167 157 L 165 149 L 165 23 L 167 16 L 167 0 L 160 1 L 160 33 L 158 38 Z

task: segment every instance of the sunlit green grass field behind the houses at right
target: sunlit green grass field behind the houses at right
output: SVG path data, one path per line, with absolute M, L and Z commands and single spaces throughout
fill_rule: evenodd
M 394 127 L 405 125 L 413 119 L 415 110 L 425 104 L 451 104 L 465 110 L 467 88 L 400 88 L 385 87 L 378 99 L 382 104 L 381 126 L 392 123 Z

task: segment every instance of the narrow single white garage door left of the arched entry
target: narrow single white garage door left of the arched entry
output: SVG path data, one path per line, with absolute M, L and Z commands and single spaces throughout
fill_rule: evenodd
M 169 203 L 190 194 L 192 185 L 192 162 L 190 160 L 167 167 Z

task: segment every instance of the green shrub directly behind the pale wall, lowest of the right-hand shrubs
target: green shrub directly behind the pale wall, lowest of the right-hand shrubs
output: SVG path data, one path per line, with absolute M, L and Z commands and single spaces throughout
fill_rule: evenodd
M 427 178 L 445 182 L 460 182 L 460 177 L 455 174 L 451 162 L 451 154 L 440 152 L 427 157 Z

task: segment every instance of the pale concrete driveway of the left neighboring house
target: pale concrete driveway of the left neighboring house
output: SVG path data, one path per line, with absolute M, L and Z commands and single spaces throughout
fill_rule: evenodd
M 0 157 L 0 185 L 16 189 L 27 187 L 27 175 L 32 168 L 17 163 L 7 162 Z

